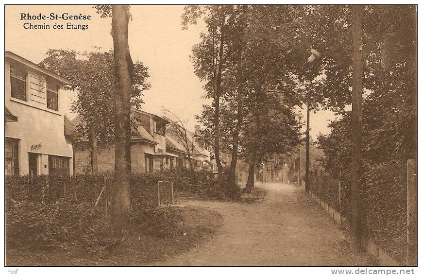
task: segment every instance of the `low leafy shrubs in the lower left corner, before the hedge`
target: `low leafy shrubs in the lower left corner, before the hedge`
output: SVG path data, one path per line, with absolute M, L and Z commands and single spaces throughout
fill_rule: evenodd
M 85 252 L 110 248 L 108 223 L 86 203 L 60 199 L 51 204 L 10 200 L 6 206 L 6 246 L 32 250 L 76 247 Z

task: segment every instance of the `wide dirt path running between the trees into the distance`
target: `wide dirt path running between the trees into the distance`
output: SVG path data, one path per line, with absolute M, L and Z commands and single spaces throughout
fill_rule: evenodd
M 353 255 L 338 254 L 336 240 L 345 239 L 344 233 L 297 185 L 258 187 L 268 190 L 261 203 L 186 203 L 218 211 L 224 225 L 212 240 L 154 265 L 347 266 L 359 262 Z

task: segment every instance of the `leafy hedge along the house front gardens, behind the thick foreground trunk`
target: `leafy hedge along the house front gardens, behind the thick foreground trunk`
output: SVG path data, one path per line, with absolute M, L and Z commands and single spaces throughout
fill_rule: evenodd
M 108 237 L 109 223 L 103 197 L 99 206 L 93 209 L 105 176 L 109 175 L 7 176 L 7 250 L 66 250 L 71 247 L 85 253 L 99 253 L 114 247 L 118 240 Z M 157 207 L 159 180 L 173 181 L 176 192 L 186 191 L 199 197 L 224 196 L 224 180 L 213 179 L 207 172 L 177 169 L 134 174 L 130 187 L 131 221 L 155 236 L 177 231 L 181 220 L 175 208 L 152 209 Z

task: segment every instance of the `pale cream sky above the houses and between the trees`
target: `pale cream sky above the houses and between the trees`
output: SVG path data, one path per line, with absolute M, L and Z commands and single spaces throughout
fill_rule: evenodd
M 66 29 L 71 20 L 20 20 L 21 13 L 30 15 L 90 15 L 91 20 L 72 20 L 72 24 L 88 25 L 88 29 Z M 187 127 L 194 129 L 195 115 L 201 114 L 202 105 L 209 104 L 204 98 L 203 83 L 194 74 L 189 61 L 192 46 L 200 41 L 204 23 L 191 25 L 182 30 L 180 16 L 183 5 L 132 5 L 133 20 L 129 22 L 129 47 L 132 59 L 148 67 L 151 88 L 145 91 L 142 109 L 162 115 L 163 108 L 169 109 L 179 118 L 187 121 Z M 34 63 L 46 57 L 49 49 L 71 49 L 91 51 L 93 46 L 108 51 L 113 48 L 110 35 L 111 18 L 101 18 L 92 5 L 6 5 L 5 7 L 5 50 L 14 52 Z M 51 29 L 25 30 L 23 24 L 49 24 Z M 53 25 L 64 25 L 64 29 L 53 29 Z M 307 58 L 304 57 L 304 58 Z M 75 100 L 75 93 L 66 92 L 68 105 Z M 306 110 L 303 109 L 303 118 Z M 67 110 L 69 118 L 76 116 Z M 329 111 L 310 115 L 310 134 L 316 138 L 320 132 L 330 132 L 327 120 L 335 116 Z M 302 129 L 304 131 L 304 128 Z

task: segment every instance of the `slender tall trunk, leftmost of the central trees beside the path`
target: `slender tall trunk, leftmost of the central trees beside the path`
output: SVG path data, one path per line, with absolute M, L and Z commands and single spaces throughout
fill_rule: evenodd
M 222 78 L 222 68 L 223 68 L 223 46 L 224 46 L 224 24 L 226 17 L 223 14 L 220 22 L 220 45 L 219 45 L 219 71 L 217 73 L 217 86 L 215 91 L 215 111 L 214 111 L 214 154 L 216 155 L 216 163 L 218 169 L 218 176 L 221 177 L 223 173 L 223 166 L 221 165 L 220 159 L 220 145 L 219 145 L 219 106 L 220 106 L 220 95 L 222 92 L 221 89 L 221 78 Z

